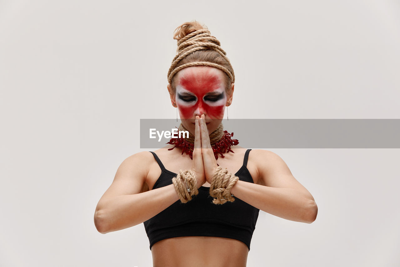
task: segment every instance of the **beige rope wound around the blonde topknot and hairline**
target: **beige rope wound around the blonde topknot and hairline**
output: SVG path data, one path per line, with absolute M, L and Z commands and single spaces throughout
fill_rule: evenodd
M 191 66 L 210 66 L 218 68 L 224 71 L 226 75 L 228 75 L 232 83 L 235 82 L 235 74 L 233 72 L 233 68 L 232 65 L 230 64 L 229 59 L 226 57 L 226 52 L 220 47 L 221 44 L 220 41 L 217 38 L 215 38 L 215 36 L 211 36 L 209 30 L 207 29 L 196 30 L 195 32 L 192 32 L 186 35 L 185 37 L 181 38 L 180 40 L 178 40 L 177 44 L 178 44 L 178 49 L 176 49 L 176 56 L 172 60 L 171 67 L 168 70 L 167 77 L 169 84 L 172 84 L 172 78 L 178 71 L 180 71 L 183 68 Z M 211 62 L 192 62 L 176 67 L 179 61 L 181 61 L 191 53 L 199 50 L 209 50 L 209 49 L 218 52 L 226 60 L 226 62 L 228 62 L 228 64 L 232 69 L 232 73 L 225 67 Z

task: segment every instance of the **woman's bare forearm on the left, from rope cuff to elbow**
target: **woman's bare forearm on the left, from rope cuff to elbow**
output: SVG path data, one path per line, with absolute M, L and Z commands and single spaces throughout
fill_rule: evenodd
M 115 196 L 99 203 L 95 225 L 103 234 L 126 229 L 152 218 L 177 200 L 173 184 L 139 194 Z

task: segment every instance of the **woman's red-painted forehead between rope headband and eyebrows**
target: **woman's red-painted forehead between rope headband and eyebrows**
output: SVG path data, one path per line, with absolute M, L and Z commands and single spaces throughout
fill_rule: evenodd
M 197 93 L 205 91 L 220 91 L 224 89 L 224 75 L 225 73 L 223 71 L 214 67 L 187 67 L 177 73 L 176 89 L 183 89 Z

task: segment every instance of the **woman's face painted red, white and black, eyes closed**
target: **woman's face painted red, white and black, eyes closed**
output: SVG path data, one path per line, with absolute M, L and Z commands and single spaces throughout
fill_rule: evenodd
M 175 103 L 183 125 L 194 134 L 196 115 L 205 115 L 209 134 L 220 125 L 227 102 L 225 73 L 208 66 L 187 67 L 179 71 L 176 80 Z

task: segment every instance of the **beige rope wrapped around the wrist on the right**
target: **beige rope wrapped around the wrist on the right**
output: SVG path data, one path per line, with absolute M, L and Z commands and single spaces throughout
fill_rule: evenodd
M 224 204 L 227 201 L 234 202 L 235 198 L 230 190 L 239 180 L 238 176 L 231 174 L 227 169 L 222 170 L 220 166 L 216 168 L 211 180 L 210 196 L 214 198 L 214 204 Z

